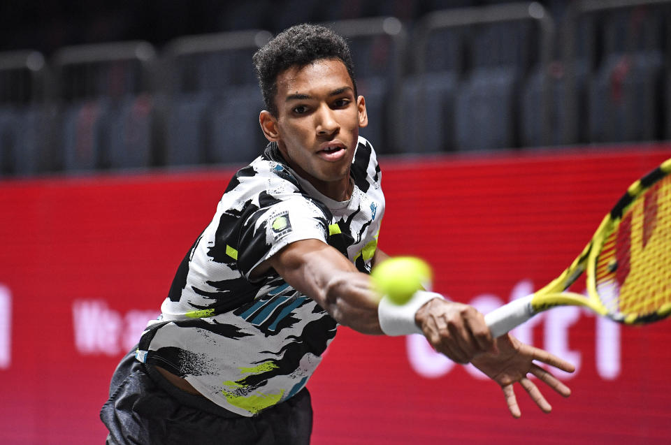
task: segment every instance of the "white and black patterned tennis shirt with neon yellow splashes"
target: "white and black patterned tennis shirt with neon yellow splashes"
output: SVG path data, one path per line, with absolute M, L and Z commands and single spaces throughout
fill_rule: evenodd
M 352 197 L 327 198 L 287 166 L 275 143 L 238 170 L 180 264 L 136 358 L 186 379 L 242 416 L 301 391 L 337 323 L 272 269 L 255 279 L 250 272 L 282 247 L 307 239 L 326 242 L 370 272 L 384 195 L 375 151 L 364 138 L 350 175 Z

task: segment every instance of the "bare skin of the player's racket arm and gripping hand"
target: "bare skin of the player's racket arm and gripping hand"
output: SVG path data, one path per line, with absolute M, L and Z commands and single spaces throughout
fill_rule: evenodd
M 388 258 L 376 251 L 373 264 Z M 338 250 L 319 240 L 293 242 L 262 263 L 254 274 L 273 268 L 294 289 L 310 296 L 335 321 L 365 334 L 382 334 L 378 319 L 379 296 L 370 287 L 369 275 Z M 493 347 L 493 339 L 482 314 L 458 302 L 435 298 L 419 313 L 428 319 L 414 321 L 438 351 L 459 363 L 468 363 Z M 414 314 L 412 314 L 414 316 Z M 411 322 L 412 323 L 412 322 Z

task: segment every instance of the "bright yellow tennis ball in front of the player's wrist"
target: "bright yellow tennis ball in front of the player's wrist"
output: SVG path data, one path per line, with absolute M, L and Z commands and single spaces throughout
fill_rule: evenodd
M 405 305 L 412 294 L 431 286 L 431 266 L 414 256 L 396 256 L 376 265 L 370 272 L 373 289 L 396 305 Z

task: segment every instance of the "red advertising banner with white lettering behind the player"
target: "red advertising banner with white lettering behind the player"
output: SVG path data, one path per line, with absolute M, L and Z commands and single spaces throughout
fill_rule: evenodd
M 668 157 L 671 145 L 382 158 L 380 247 L 426 258 L 436 291 L 486 312 L 558 275 Z M 110 375 L 232 173 L 0 182 L 1 444 L 104 443 Z M 340 328 L 308 384 L 312 442 L 670 442 L 671 321 L 620 326 L 563 307 L 514 333 L 577 367 L 561 375 L 568 399 L 544 391 L 551 414 L 518 387 L 513 419 L 496 384 L 420 336 Z

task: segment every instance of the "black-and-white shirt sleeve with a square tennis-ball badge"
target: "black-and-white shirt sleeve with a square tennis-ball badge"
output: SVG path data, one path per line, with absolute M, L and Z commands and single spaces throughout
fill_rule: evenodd
M 329 221 L 324 209 L 303 195 L 262 207 L 247 218 L 240 231 L 240 273 L 249 279 L 259 263 L 291 242 L 309 239 L 326 242 Z

